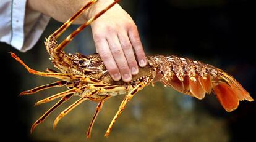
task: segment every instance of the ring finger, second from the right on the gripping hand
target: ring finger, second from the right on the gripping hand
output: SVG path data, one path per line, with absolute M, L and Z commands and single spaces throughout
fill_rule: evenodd
M 134 50 L 132 49 L 132 44 L 127 34 L 119 33 L 118 39 L 121 43 L 122 50 L 128 62 L 130 71 L 132 75 L 136 75 L 139 72 L 138 65 L 134 56 Z

